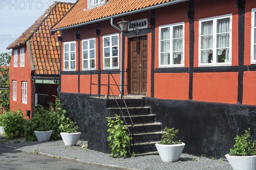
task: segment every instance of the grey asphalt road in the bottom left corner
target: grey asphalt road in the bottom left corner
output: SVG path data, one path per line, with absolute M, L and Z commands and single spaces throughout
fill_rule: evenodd
M 72 161 L 22 153 L 0 142 L 0 170 L 110 170 Z

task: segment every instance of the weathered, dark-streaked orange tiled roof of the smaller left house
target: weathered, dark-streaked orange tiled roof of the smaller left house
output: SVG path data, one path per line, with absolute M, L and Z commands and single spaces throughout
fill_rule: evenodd
M 18 47 L 29 40 L 35 74 L 59 74 L 60 31 L 51 35 L 50 28 L 73 6 L 72 3 L 55 2 L 35 23 L 17 38 L 7 49 Z

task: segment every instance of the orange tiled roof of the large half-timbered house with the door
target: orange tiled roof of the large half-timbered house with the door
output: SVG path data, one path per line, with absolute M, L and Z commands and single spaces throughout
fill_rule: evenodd
M 109 0 L 102 6 L 89 9 L 86 9 L 86 1 L 87 0 L 78 0 L 65 17 L 52 27 L 52 30 L 86 23 L 175 0 Z

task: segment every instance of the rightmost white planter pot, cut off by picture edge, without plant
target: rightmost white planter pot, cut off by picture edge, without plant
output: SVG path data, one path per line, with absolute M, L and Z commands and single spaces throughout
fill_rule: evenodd
M 230 156 L 225 155 L 233 170 L 256 170 L 256 155 Z

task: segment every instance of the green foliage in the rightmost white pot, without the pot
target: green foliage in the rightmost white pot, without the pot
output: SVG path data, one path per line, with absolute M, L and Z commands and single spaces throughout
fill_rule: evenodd
M 236 143 L 230 149 L 230 156 L 253 156 L 256 155 L 256 141 L 251 140 L 250 128 L 244 130 L 244 135 L 237 135 Z

